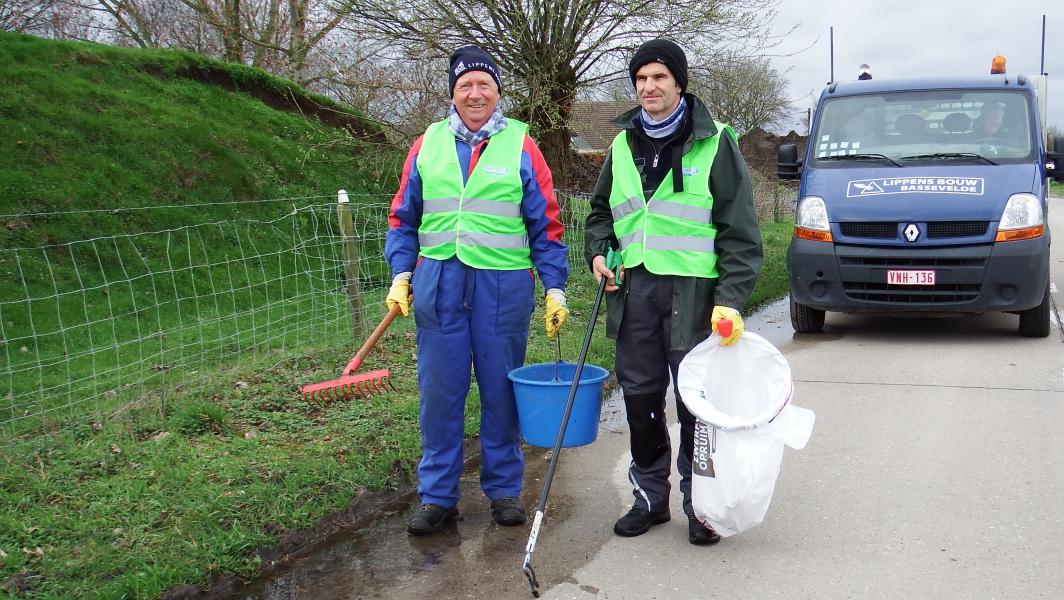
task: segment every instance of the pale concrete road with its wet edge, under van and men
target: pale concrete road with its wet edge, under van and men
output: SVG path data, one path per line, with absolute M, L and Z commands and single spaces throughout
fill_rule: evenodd
M 751 315 L 816 426 L 784 451 L 765 521 L 716 546 L 687 543 L 677 485 L 671 522 L 612 534 L 631 491 L 611 398 L 596 443 L 563 450 L 533 557 L 543 598 L 1064 598 L 1064 200 L 1050 218 L 1048 338 L 1019 337 L 1014 315 L 829 313 L 818 335 L 794 333 L 785 301 Z M 530 506 L 548 456 L 529 452 Z M 428 538 L 406 537 L 399 512 L 240 597 L 530 597 L 529 528 L 491 522 L 476 472 L 460 509 Z

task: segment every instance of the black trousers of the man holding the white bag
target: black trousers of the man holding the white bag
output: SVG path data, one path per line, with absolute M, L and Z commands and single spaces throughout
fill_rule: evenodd
M 651 512 L 668 510 L 671 490 L 671 447 L 665 416 L 669 376 L 676 381 L 680 362 L 687 354 L 670 350 L 674 314 L 672 278 L 636 267 L 625 271 L 625 312 L 617 335 L 617 380 L 625 394 L 625 412 L 631 435 L 632 464 L 629 480 L 635 505 Z M 679 401 L 680 453 L 677 471 L 683 511 L 694 515 L 691 504 L 691 461 L 695 416 Z

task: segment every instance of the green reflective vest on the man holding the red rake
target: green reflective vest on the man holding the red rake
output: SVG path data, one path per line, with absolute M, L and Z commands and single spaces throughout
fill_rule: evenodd
M 425 132 L 417 155 L 421 176 L 419 253 L 446 260 L 458 255 L 480 269 L 532 267 L 528 230 L 521 217 L 521 150 L 528 126 L 506 119 L 463 183 L 454 134 L 447 121 Z

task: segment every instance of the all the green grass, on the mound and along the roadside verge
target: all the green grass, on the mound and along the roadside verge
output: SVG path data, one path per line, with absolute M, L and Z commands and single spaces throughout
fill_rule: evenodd
M 362 367 L 387 367 L 395 390 L 338 402 L 298 393 L 335 378 L 361 343 L 323 224 L 335 221 L 331 196 L 386 201 L 403 149 L 272 109 L 238 89 L 328 101 L 188 54 L 0 34 L 0 419 L 24 406 L 13 397 L 52 411 L 9 432 L 34 436 L 0 439 L 0 596 L 154 598 L 214 573 L 252 578 L 255 550 L 279 532 L 410 480 L 412 319 Z M 322 207 L 283 217 L 299 201 L 256 201 L 288 196 Z M 172 207 L 129 210 L 160 205 Z M 569 222 L 585 209 L 567 207 Z M 358 219 L 367 318 L 382 313 L 386 279 L 375 210 Z M 226 224 L 198 224 L 212 222 Z M 747 309 L 786 291 L 789 228 L 764 223 Z M 168 230 L 182 234 L 140 235 Z M 88 237 L 105 241 L 70 244 Z M 566 240 L 562 355 L 575 361 L 595 289 L 580 228 Z M 554 360 L 542 311 L 528 363 Z M 588 362 L 612 369 L 600 319 Z M 478 409 L 473 389 L 469 436 Z

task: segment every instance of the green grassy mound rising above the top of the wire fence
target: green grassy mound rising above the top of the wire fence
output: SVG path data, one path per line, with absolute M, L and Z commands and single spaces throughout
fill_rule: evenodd
M 230 85 L 178 74 L 194 72 Z M 227 88 L 279 96 L 298 89 L 254 69 L 181 52 L 0 34 L 0 79 L 4 213 L 380 187 L 380 181 L 372 182 L 371 169 L 356 172 L 355 159 L 365 155 L 358 153 L 360 145 L 346 132 Z M 84 223 L 45 219 L 30 224 L 34 235 L 13 234 L 6 228 L 7 237 L 0 239 L 32 244 L 41 239 L 43 231 L 46 238 L 64 239 Z M 103 217 L 99 224 L 118 223 Z M 121 227 L 131 224 L 137 223 Z

